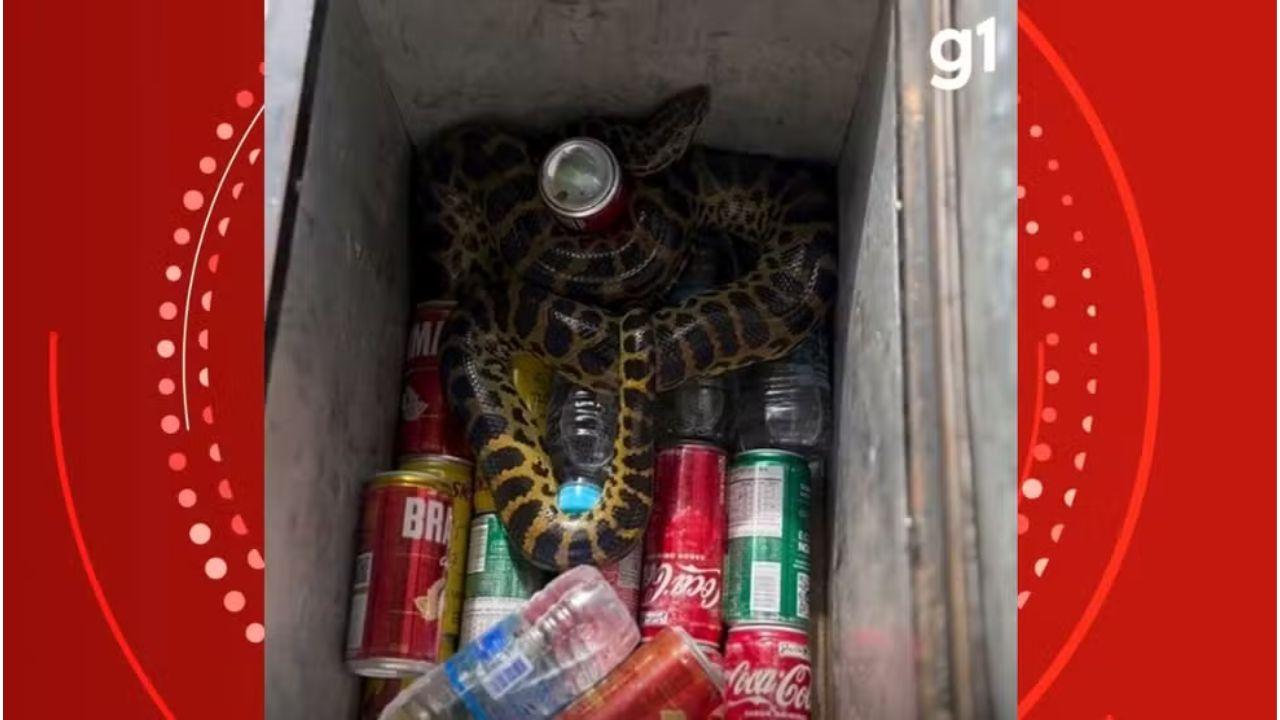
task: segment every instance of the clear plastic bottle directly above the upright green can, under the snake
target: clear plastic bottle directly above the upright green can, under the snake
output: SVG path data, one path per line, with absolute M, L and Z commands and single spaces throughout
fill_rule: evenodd
M 831 445 L 831 348 L 814 328 L 790 355 L 745 368 L 739 378 L 741 450 L 823 455 Z

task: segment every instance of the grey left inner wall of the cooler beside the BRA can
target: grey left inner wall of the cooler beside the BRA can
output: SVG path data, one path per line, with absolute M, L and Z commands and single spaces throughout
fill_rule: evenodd
M 266 716 L 346 720 L 360 483 L 390 462 L 408 323 L 411 146 L 355 3 L 316 14 L 302 174 L 268 307 Z

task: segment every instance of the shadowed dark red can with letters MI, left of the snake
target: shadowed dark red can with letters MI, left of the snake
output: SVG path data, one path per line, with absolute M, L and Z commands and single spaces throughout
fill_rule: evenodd
M 440 374 L 440 334 L 457 304 L 419 302 L 408 332 L 404 389 L 401 393 L 399 452 L 471 457 L 462 427 L 449 414 Z

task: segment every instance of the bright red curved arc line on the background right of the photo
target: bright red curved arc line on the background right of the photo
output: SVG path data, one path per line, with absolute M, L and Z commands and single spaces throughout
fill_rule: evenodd
M 1102 152 L 1107 170 L 1111 173 L 1111 181 L 1115 183 L 1120 205 L 1124 209 L 1129 234 L 1133 240 L 1134 255 L 1138 261 L 1138 277 L 1142 284 L 1143 310 L 1147 320 L 1147 406 L 1143 421 L 1142 447 L 1138 455 L 1138 469 L 1134 475 L 1133 491 L 1129 495 L 1129 505 L 1125 507 L 1124 520 L 1120 524 L 1120 534 L 1111 548 L 1111 556 L 1107 559 L 1106 568 L 1103 568 L 1102 575 L 1098 578 L 1098 584 L 1093 588 L 1093 594 L 1089 597 L 1089 602 L 1085 605 L 1080 618 L 1071 628 L 1071 633 L 1062 643 L 1062 647 L 1059 648 L 1044 673 L 1032 685 L 1032 689 L 1018 701 L 1018 715 L 1023 717 L 1036 707 L 1036 703 L 1039 702 L 1050 685 L 1062 673 L 1066 664 L 1071 661 L 1071 656 L 1079 650 L 1084 637 L 1093 626 L 1093 621 L 1106 603 L 1116 575 L 1120 573 L 1120 565 L 1129 551 L 1129 542 L 1133 539 L 1138 516 L 1142 514 L 1142 502 L 1147 495 L 1147 483 L 1151 479 L 1151 462 L 1156 448 L 1156 420 L 1160 409 L 1160 316 L 1156 310 L 1156 283 L 1151 269 L 1151 256 L 1147 251 L 1147 234 L 1142 228 L 1142 218 L 1138 215 L 1138 204 L 1134 200 L 1133 188 L 1129 186 L 1129 179 L 1124 173 L 1124 167 L 1120 164 L 1120 156 L 1111 143 L 1111 137 L 1107 135 L 1089 97 L 1084 94 L 1084 88 L 1080 87 L 1075 76 L 1071 74 L 1062 56 L 1057 54 L 1057 50 L 1044 37 L 1044 33 L 1041 32 L 1023 10 L 1018 10 L 1018 29 L 1027 36 L 1041 56 L 1048 63 L 1050 68 L 1053 69 L 1053 73 L 1084 118 L 1085 124 L 1089 126 L 1093 141 Z

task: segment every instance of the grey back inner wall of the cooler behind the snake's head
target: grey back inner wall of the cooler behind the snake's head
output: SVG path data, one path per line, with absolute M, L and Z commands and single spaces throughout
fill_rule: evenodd
M 410 135 L 713 88 L 699 138 L 835 163 L 881 0 L 357 0 Z

